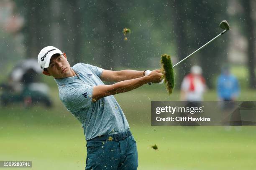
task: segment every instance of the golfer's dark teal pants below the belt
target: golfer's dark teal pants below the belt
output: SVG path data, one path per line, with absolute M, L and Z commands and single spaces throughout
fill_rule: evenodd
M 85 170 L 137 170 L 138 151 L 133 136 L 118 141 L 111 138 L 87 140 Z

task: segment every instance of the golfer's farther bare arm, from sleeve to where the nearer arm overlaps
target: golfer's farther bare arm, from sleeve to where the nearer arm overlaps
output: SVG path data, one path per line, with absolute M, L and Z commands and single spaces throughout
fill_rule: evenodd
M 138 77 L 143 77 L 144 71 L 136 70 L 121 70 L 121 71 L 112 71 L 112 70 L 103 70 L 100 76 L 102 81 L 114 81 L 120 82 L 124 80 L 131 80 Z

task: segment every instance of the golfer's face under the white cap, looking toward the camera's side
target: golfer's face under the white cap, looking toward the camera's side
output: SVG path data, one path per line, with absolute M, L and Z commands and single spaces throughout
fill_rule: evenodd
M 70 77 L 72 75 L 69 62 L 65 53 L 58 57 L 51 58 L 50 65 L 47 72 L 43 71 L 45 75 L 51 75 L 56 79 Z

